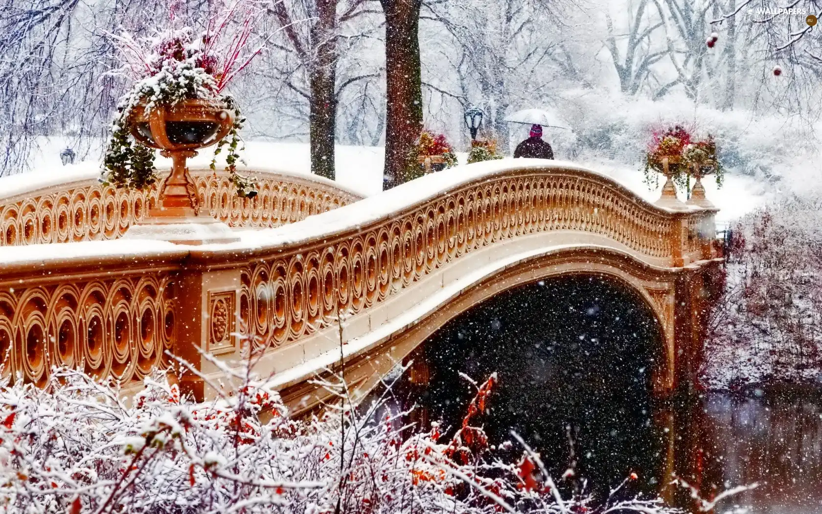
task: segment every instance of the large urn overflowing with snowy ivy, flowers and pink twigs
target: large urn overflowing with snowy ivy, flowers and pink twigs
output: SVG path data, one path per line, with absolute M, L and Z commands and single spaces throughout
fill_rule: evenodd
M 196 211 L 196 190 L 185 160 L 196 149 L 216 144 L 211 168 L 216 169 L 216 155 L 226 150 L 226 171 L 238 195 L 256 195 L 254 180 L 237 171 L 245 118 L 225 88 L 262 50 L 247 48 L 259 15 L 241 0 L 212 13 L 201 32 L 174 26 L 172 12 L 169 27 L 154 37 L 111 35 L 125 63 L 120 72 L 132 79 L 132 86 L 114 116 L 104 155 L 105 183 L 150 187 L 158 180 L 152 149 L 160 149 L 173 159 L 161 197 L 164 189 L 178 195 L 184 189 Z

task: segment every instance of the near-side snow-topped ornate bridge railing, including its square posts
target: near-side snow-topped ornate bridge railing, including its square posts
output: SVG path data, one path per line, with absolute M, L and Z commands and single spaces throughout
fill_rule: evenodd
M 339 313 L 348 340 L 376 331 L 404 311 L 406 291 L 444 287 L 472 256 L 510 243 L 584 245 L 675 271 L 715 257 L 714 212 L 664 209 L 587 169 L 524 161 L 421 178 L 239 243 L 6 248 L 0 351 L 10 350 L 6 373 L 32 382 L 44 382 L 50 364 L 133 381 L 164 349 L 208 374 L 215 369 L 196 350 L 236 358 L 236 330 L 247 326 L 270 341 L 258 371 L 284 373 L 339 355 Z M 188 387 L 203 394 L 199 380 Z

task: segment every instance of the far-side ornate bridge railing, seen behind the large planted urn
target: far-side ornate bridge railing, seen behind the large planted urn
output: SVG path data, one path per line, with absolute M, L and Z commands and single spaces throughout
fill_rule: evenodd
M 191 173 L 200 204 L 233 227 L 276 227 L 362 199 L 322 178 L 266 171 L 254 172 L 259 194 L 240 198 L 227 174 L 210 169 Z M 145 192 L 115 189 L 99 183 L 97 176 L 0 197 L 0 246 L 119 238 L 157 201 L 156 187 Z

